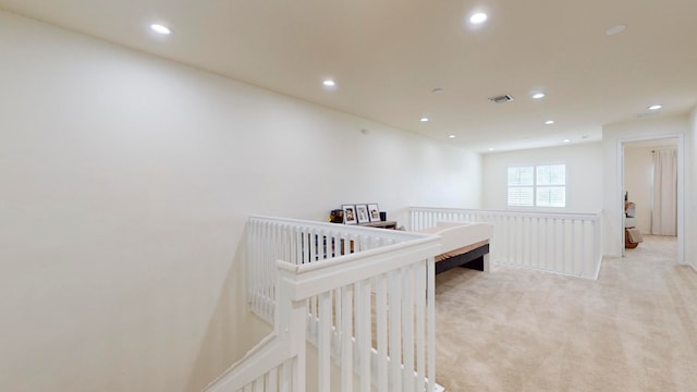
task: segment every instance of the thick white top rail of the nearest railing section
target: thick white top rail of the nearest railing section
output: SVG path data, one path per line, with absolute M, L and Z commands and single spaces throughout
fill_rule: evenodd
M 325 262 L 294 265 L 278 260 L 279 270 L 295 282 L 295 297 L 299 301 L 325 291 L 379 275 L 441 252 L 440 236 L 426 235 L 419 240 L 387 245 L 375 249 L 337 257 Z

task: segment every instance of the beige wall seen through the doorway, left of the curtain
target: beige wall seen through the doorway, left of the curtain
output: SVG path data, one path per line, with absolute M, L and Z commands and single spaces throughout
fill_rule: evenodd
M 624 149 L 624 191 L 636 206 L 636 228 L 644 234 L 651 233 L 651 205 L 653 195 L 653 147 Z

